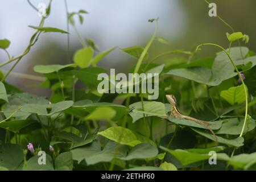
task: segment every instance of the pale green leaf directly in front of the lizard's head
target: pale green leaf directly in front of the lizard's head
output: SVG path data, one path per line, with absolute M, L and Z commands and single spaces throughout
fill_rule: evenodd
M 129 113 L 133 118 L 133 122 L 137 121 L 140 118 L 143 118 L 143 114 L 146 117 L 150 116 L 158 116 L 158 117 L 166 117 L 166 107 L 162 102 L 155 101 L 144 101 L 143 102 L 144 111 L 142 109 L 141 102 L 135 102 L 129 106 L 129 109 L 132 111 Z

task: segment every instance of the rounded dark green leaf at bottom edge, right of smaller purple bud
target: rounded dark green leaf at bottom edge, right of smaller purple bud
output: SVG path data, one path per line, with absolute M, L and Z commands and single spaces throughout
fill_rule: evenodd
M 72 171 L 73 159 L 71 152 L 63 152 L 55 159 L 56 171 Z

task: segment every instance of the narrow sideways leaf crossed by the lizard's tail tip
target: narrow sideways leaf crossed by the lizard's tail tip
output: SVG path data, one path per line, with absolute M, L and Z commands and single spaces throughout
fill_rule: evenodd
M 215 140 L 214 136 L 212 134 L 206 133 L 204 131 L 198 130 L 198 129 L 193 129 L 192 130 L 196 131 L 196 133 L 203 135 L 206 138 L 209 138 L 211 140 Z M 243 146 L 243 141 L 244 139 L 242 137 L 238 137 L 235 139 L 226 139 L 226 138 L 222 138 L 217 136 L 218 139 L 218 143 L 224 143 L 228 146 L 234 146 L 234 147 L 241 147 Z

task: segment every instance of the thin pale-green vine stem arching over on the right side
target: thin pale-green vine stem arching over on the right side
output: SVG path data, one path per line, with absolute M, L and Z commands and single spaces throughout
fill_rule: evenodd
M 243 85 L 243 89 L 245 91 L 245 121 L 243 122 L 243 127 L 242 127 L 242 131 L 240 133 L 239 137 L 242 137 L 243 135 L 243 131 L 245 130 L 245 126 L 246 126 L 246 121 L 247 121 L 247 114 L 248 114 L 248 96 L 247 96 L 247 87 L 245 85 L 245 82 L 243 82 L 243 78 L 240 74 L 240 72 L 238 71 L 236 64 L 234 63 L 234 61 L 232 60 L 232 58 L 230 57 L 229 53 L 226 51 L 226 49 L 224 49 L 223 47 L 219 46 L 218 44 L 213 44 L 213 43 L 205 43 L 205 44 L 200 44 L 199 46 L 197 46 L 196 51 L 199 49 L 199 47 L 201 46 L 216 46 L 220 49 L 222 49 L 222 51 L 224 51 L 226 53 L 226 55 L 229 57 L 229 60 L 231 61 L 231 63 L 233 64 L 234 69 L 236 69 L 236 72 L 238 74 L 238 77 L 240 78 L 242 85 Z

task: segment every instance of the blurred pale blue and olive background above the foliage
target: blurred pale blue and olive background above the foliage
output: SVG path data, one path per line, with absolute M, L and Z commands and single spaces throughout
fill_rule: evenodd
M 44 0 L 32 0 L 35 6 L 46 3 Z M 83 38 L 91 38 L 101 51 L 118 46 L 145 46 L 154 32 L 154 23 L 150 18 L 159 17 L 158 36 L 170 42 L 170 46 L 160 43 L 152 44 L 150 56 L 172 49 L 191 51 L 200 43 L 218 43 L 228 47 L 226 32 L 230 29 L 217 18 L 208 16 L 208 5 L 204 0 L 67 0 L 68 10 L 89 12 L 84 16 L 84 24 L 77 28 Z M 218 0 L 217 13 L 231 24 L 235 31 L 242 31 L 250 36 L 247 45 L 256 51 L 255 0 Z M 40 17 L 28 5 L 26 0 L 0 0 L 0 39 L 9 39 L 11 46 L 8 51 L 12 56 L 20 55 L 27 47 L 35 30 L 28 25 L 38 26 Z M 46 19 L 45 26 L 67 30 L 67 16 L 64 0 L 53 0 L 51 15 Z M 81 48 L 79 40 L 71 27 L 71 51 Z M 217 49 L 205 47 L 201 56 L 214 56 Z M 0 50 L 0 62 L 7 60 L 5 52 Z M 14 72 L 36 74 L 32 68 L 36 64 L 67 64 L 67 35 L 45 33 L 32 47 L 30 53 L 23 57 Z M 136 60 L 116 49 L 100 63 L 106 69 L 117 68 L 118 72 L 127 72 Z M 4 69 L 9 69 L 7 65 Z M 11 75 L 7 81 L 20 86 L 24 91 L 38 93 L 31 87 L 39 82 L 20 79 Z M 40 94 L 40 93 L 39 93 Z

